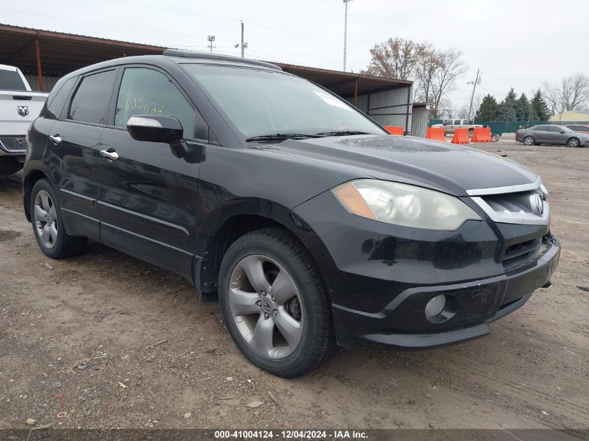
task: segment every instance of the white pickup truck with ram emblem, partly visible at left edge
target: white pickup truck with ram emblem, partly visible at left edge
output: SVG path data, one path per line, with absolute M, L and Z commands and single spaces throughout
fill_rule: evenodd
M 31 92 L 20 69 L 0 64 L 0 176 L 22 169 L 26 130 L 49 93 Z

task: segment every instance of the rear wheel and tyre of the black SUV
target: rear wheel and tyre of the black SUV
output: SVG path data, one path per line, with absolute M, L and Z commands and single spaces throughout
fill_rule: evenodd
M 84 251 L 88 239 L 66 233 L 59 201 L 47 179 L 38 180 L 33 186 L 30 209 L 35 238 L 46 256 L 64 258 Z

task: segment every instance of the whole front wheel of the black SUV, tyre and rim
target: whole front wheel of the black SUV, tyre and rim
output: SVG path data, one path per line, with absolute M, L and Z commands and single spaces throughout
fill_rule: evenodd
M 333 352 L 330 300 L 319 270 L 283 229 L 247 233 L 229 247 L 219 298 L 239 350 L 273 375 L 303 375 Z

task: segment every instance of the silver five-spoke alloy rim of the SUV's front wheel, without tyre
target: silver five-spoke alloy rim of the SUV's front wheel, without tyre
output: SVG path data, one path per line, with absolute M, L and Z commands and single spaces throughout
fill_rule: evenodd
M 235 265 L 229 308 L 240 335 L 262 357 L 288 357 L 303 337 L 298 288 L 289 272 L 268 256 L 251 254 Z

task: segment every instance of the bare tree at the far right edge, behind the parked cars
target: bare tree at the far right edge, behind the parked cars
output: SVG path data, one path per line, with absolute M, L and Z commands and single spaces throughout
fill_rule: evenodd
M 589 77 L 577 73 L 563 78 L 560 84 L 542 83 L 544 99 L 554 114 L 567 110 L 581 110 L 589 101 Z

